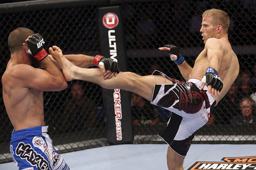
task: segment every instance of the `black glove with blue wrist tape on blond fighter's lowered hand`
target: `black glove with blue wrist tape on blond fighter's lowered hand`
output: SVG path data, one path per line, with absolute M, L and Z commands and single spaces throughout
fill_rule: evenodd
M 202 78 L 201 82 L 211 85 L 212 88 L 215 88 L 217 91 L 221 91 L 223 83 L 221 78 L 218 76 L 218 72 L 214 68 L 207 68 L 205 76 Z

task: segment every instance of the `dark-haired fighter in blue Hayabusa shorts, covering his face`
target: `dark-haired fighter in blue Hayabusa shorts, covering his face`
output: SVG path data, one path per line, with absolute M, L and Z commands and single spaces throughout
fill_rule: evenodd
M 47 134 L 48 125 L 44 122 L 43 106 L 43 91 L 62 91 L 68 84 L 51 60 L 51 55 L 43 48 L 44 43 L 41 35 L 34 34 L 27 28 L 17 28 L 8 37 L 11 59 L 2 76 L 2 85 L 4 105 L 14 126 L 10 151 L 19 169 L 69 170 L 63 158 L 53 148 L 52 140 Z M 53 46 L 49 48 L 49 53 L 61 53 L 61 50 Z M 80 54 L 65 57 L 71 61 L 74 58 L 79 59 L 83 63 L 72 62 L 80 67 L 94 65 L 94 61 L 97 61 L 97 65 L 102 62 L 106 66 L 101 66 L 105 79 L 116 75 L 119 70 L 116 62 L 102 56 Z M 45 70 L 40 69 L 40 65 Z

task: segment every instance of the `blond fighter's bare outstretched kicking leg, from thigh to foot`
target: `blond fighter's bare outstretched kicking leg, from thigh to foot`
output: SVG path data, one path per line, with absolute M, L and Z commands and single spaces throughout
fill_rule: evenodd
M 172 81 L 161 75 L 140 76 L 133 72 L 120 72 L 116 77 L 105 80 L 99 68 L 77 67 L 63 57 L 62 52 L 53 53 L 52 56 L 62 67 L 62 73 L 67 81 L 79 79 L 99 84 L 106 89 L 124 89 L 137 93 L 149 101 L 155 84 L 172 84 Z

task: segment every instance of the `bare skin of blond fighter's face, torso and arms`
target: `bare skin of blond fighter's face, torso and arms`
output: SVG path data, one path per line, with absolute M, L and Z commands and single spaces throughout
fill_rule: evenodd
M 191 78 L 201 80 L 208 67 L 212 67 L 218 72 L 218 76 L 223 82 L 221 92 L 211 88 L 211 85 L 208 86 L 208 91 L 212 96 L 215 96 L 216 105 L 226 95 L 229 87 L 239 74 L 238 59 L 229 43 L 228 35 L 216 33 L 219 31 L 218 29 L 220 28 L 214 28 L 211 24 L 210 17 L 204 17 L 200 29 L 205 43 L 204 50 L 198 55 L 193 68 L 186 62 L 178 65 L 181 75 L 187 81 Z M 170 50 L 167 47 L 160 47 L 159 49 Z M 201 87 L 203 86 L 204 83 Z

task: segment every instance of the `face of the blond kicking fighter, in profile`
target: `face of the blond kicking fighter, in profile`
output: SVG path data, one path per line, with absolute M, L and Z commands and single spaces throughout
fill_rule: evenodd
M 207 39 L 214 38 L 217 35 L 216 27 L 213 26 L 211 20 L 211 17 L 204 17 L 202 20 L 200 32 L 202 33 L 204 43 Z

